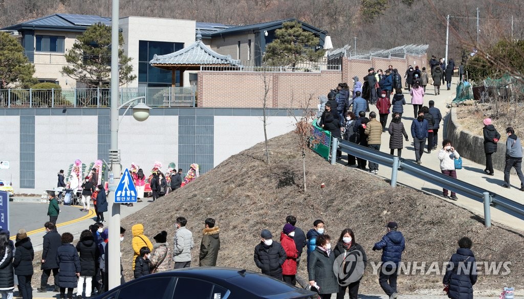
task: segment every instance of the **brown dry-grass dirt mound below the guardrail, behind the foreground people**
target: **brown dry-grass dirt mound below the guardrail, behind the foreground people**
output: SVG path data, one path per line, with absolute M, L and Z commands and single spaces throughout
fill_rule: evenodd
M 511 273 L 499 276 L 479 276 L 475 291 L 498 291 L 505 285 L 524 287 L 522 282 L 522 252 L 524 238 L 520 232 L 494 225 L 485 228 L 478 216 L 440 198 L 398 186 L 391 186 L 377 176 L 343 167 L 332 166 L 313 152 L 307 154 L 308 192 L 301 190 L 302 161 L 294 146 L 292 134 L 270 140 L 271 164 L 264 161 L 263 143 L 222 162 L 196 181 L 146 208 L 123 219 L 128 229 L 122 243 L 126 276 L 131 276 L 130 245 L 133 224 L 142 223 L 150 237 L 161 230 L 169 233 L 172 245 L 174 220 L 188 219 L 193 231 L 195 248 L 192 265 L 198 265 L 201 230 L 205 218 L 215 218 L 221 228 L 221 250 L 217 265 L 258 271 L 253 262 L 253 250 L 259 242 L 260 230 L 268 228 L 278 240 L 287 215 L 298 219 L 297 226 L 305 232 L 315 219 L 323 219 L 332 243 L 342 229 L 350 227 L 355 239 L 368 254 L 369 262 L 378 263 L 380 252 L 373 244 L 385 234 L 389 220 L 399 224 L 406 237 L 403 261 L 449 261 L 462 236 L 471 237 L 478 261 L 510 261 Z M 324 189 L 320 188 L 325 183 Z M 304 252 L 305 256 L 305 252 Z M 305 257 L 302 259 L 305 261 Z M 299 275 L 307 278 L 305 262 Z M 361 284 L 361 293 L 382 293 L 378 275 L 368 267 Z M 442 293 L 442 275 L 401 275 L 401 293 Z M 425 272 L 425 271 L 424 271 Z

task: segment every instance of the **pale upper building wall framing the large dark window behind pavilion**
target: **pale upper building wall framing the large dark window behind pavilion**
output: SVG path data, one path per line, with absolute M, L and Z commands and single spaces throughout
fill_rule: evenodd
M 140 40 L 149 41 L 169 41 L 183 42 L 184 47 L 191 45 L 195 41 L 195 21 L 149 17 L 124 17 L 119 21 L 124 36 L 124 52 L 132 57 L 130 62 L 133 65 L 137 80 L 129 82 L 126 86 L 138 86 L 138 42 Z M 184 86 L 189 86 L 189 75 L 184 73 Z

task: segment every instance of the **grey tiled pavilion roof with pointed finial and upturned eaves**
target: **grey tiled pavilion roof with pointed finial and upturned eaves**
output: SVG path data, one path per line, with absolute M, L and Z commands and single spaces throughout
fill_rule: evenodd
M 157 55 L 149 61 L 150 64 L 155 65 L 156 67 L 160 66 L 194 66 L 194 65 L 233 65 L 233 66 L 242 66 L 240 60 L 235 60 L 231 58 L 231 55 L 222 55 L 219 54 L 210 48 L 208 48 L 202 42 L 201 36 L 196 36 L 196 41 L 182 50 L 166 54 L 166 55 Z

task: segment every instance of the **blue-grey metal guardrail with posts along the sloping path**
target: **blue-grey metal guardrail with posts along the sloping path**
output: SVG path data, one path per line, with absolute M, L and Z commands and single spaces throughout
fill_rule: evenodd
M 494 207 L 507 214 L 524 220 L 524 205 L 514 202 L 509 198 L 497 195 L 481 187 L 451 178 L 438 171 L 423 167 L 411 161 L 392 156 L 390 154 L 369 149 L 357 145 L 356 143 L 332 138 L 331 144 L 331 164 L 336 164 L 336 150 L 339 149 L 355 157 L 372 161 L 386 167 L 390 167 L 391 186 L 397 184 L 398 171 L 405 172 L 409 175 L 416 176 L 424 181 L 452 190 L 465 197 L 471 198 L 477 202 L 484 203 L 484 224 L 486 227 L 491 226 L 490 207 Z

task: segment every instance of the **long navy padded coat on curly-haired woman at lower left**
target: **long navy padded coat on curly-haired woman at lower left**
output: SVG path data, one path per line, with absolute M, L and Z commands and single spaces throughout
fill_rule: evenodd
M 71 243 L 65 243 L 57 251 L 58 286 L 77 287 L 77 273 L 80 273 L 80 258 Z

